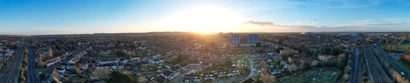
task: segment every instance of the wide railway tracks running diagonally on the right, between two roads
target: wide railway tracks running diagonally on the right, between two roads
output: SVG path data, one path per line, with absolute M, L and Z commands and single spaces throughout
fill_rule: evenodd
M 361 35 L 361 42 L 364 51 L 364 58 L 366 60 L 367 71 L 369 73 L 371 82 L 393 82 L 377 61 L 377 58 L 371 51 L 371 48 L 368 45 L 364 35 Z

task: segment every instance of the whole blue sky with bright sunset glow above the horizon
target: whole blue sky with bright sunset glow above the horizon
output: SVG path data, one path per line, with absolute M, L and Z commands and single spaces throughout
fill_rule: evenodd
M 406 0 L 0 0 L 0 34 L 410 31 Z

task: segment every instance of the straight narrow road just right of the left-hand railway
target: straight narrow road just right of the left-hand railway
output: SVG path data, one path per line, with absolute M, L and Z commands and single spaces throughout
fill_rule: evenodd
M 29 78 L 28 78 L 27 82 L 38 83 L 40 81 L 37 78 L 37 70 L 35 69 L 36 64 L 33 61 L 31 61 L 31 60 L 34 60 L 34 50 L 31 49 L 31 48 L 29 50 L 28 58 L 29 58 L 29 66 L 28 66 L 29 69 L 28 69 L 28 74 L 27 74 L 28 76 L 27 77 L 29 77 Z

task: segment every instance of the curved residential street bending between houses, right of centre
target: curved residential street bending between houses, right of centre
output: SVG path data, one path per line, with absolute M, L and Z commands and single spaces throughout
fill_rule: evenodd
M 251 64 L 251 73 L 250 73 L 250 74 L 241 76 L 241 77 L 239 77 L 239 78 L 230 78 L 230 79 L 227 79 L 227 80 L 219 80 L 218 82 L 236 82 L 236 81 L 242 81 L 242 80 L 251 78 L 251 77 L 253 77 L 254 75 L 256 75 L 256 73 L 257 73 L 258 71 L 256 70 L 254 57 L 245 56 L 245 58 L 247 58 L 247 59 L 249 60 L 249 63 Z M 254 72 L 254 70 L 255 70 L 255 72 Z

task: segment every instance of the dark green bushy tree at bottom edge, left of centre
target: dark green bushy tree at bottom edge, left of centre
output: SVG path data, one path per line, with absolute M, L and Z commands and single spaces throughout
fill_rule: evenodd
M 121 73 L 119 71 L 112 71 L 110 73 L 110 80 L 108 82 L 128 83 L 134 82 L 130 75 Z

